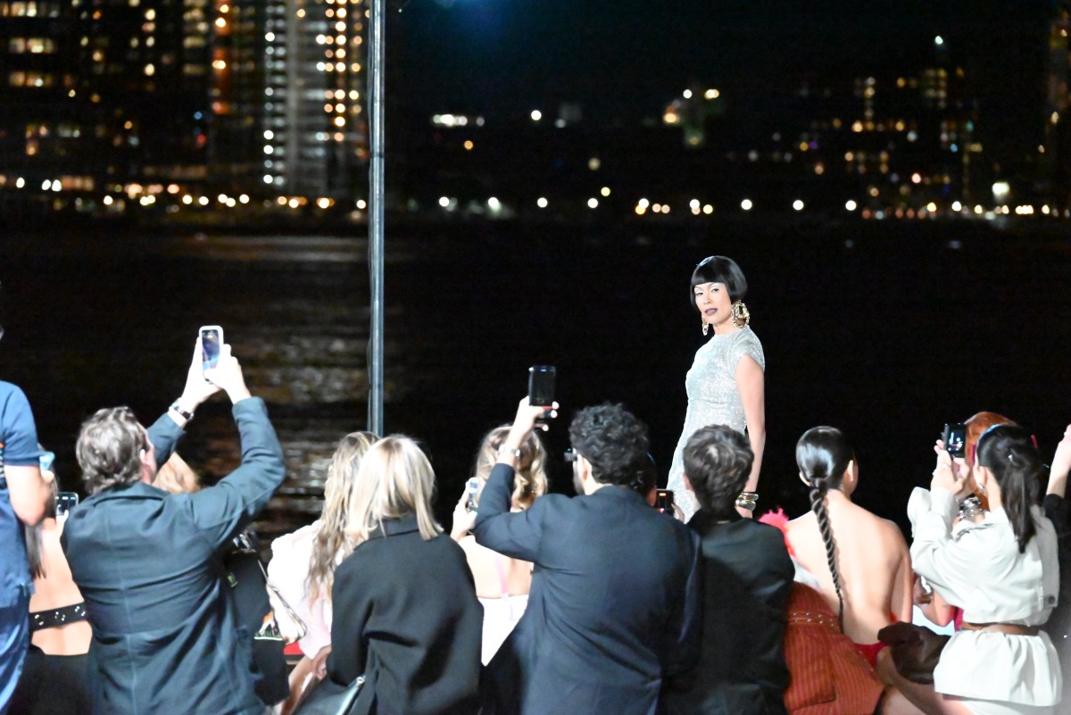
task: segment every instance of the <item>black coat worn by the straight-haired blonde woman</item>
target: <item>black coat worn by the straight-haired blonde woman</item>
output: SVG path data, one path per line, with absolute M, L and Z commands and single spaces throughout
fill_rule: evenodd
M 368 678 L 357 712 L 476 715 L 483 607 L 465 552 L 417 518 L 383 521 L 335 569 L 328 674 Z

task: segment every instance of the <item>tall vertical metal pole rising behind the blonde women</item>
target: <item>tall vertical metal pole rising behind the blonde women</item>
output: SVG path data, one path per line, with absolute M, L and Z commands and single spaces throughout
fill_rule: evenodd
M 368 344 L 368 431 L 383 433 L 383 35 L 386 0 L 371 0 L 368 26 L 369 134 L 368 273 L 372 335 Z

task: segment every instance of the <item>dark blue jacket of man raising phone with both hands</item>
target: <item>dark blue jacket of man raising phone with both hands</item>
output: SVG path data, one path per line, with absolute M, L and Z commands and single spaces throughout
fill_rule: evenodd
M 169 495 L 138 482 L 90 497 L 67 518 L 62 544 L 93 627 L 99 715 L 263 711 L 218 551 L 282 483 L 283 451 L 259 398 L 233 414 L 242 465 L 216 486 Z M 179 435 L 166 416 L 153 425 L 157 459 Z

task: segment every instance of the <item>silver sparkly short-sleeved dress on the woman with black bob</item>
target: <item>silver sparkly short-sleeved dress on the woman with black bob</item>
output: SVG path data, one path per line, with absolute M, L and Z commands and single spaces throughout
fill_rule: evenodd
M 741 432 L 745 430 L 748 423 L 743 415 L 740 392 L 736 386 L 737 363 L 744 355 L 752 358 L 766 370 L 763 344 L 751 328 L 744 326 L 727 335 L 714 335 L 696 350 L 695 362 L 684 378 L 688 413 L 684 415 L 684 429 L 673 454 L 666 488 L 673 489 L 674 499 L 684 512 L 685 521 L 692 518 L 699 505 L 692 492 L 684 489 L 684 444 L 695 430 L 707 425 L 728 425 Z

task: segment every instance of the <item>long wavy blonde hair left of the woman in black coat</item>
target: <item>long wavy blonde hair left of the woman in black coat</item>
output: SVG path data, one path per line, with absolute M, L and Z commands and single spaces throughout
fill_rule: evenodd
M 313 556 L 308 564 L 310 600 L 321 593 L 331 598 L 334 584 L 334 569 L 353 550 L 353 539 L 346 533 L 349 523 L 350 502 L 357 485 L 357 471 L 361 457 L 379 438 L 372 432 L 350 432 L 338 441 L 328 478 L 323 484 L 323 511 L 320 513 L 320 528 L 313 541 Z

